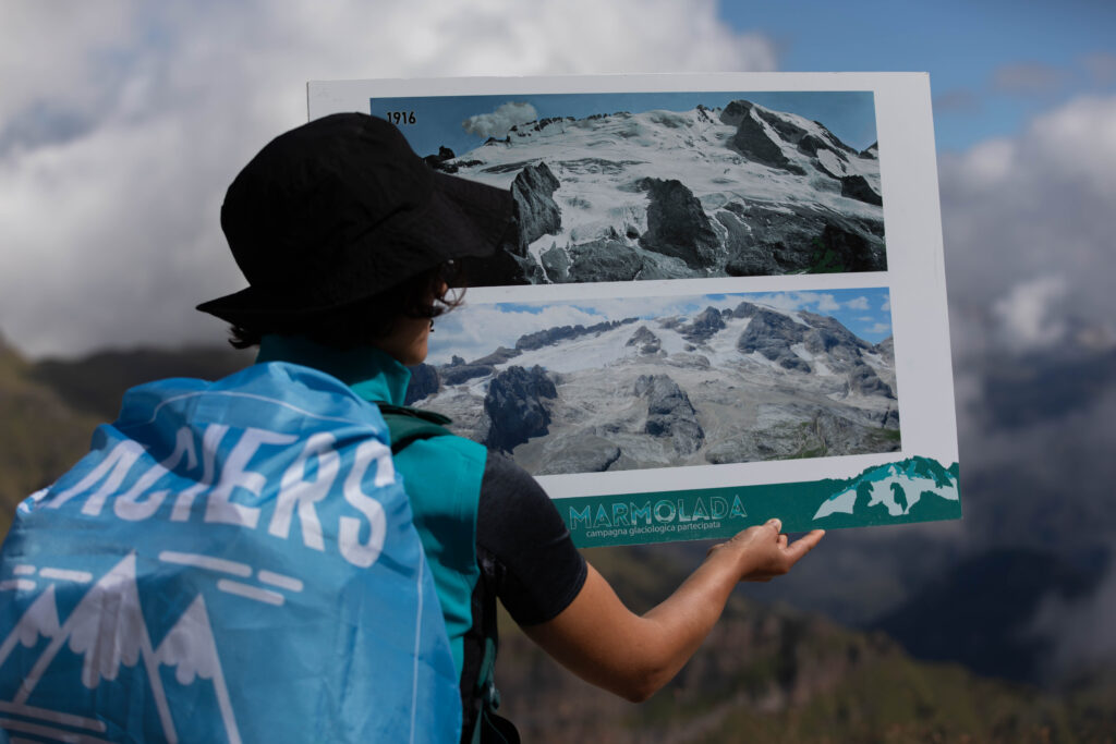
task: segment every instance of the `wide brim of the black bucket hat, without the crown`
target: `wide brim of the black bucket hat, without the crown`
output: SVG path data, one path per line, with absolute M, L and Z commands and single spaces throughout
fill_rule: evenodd
M 319 315 L 359 302 L 448 261 L 492 255 L 510 235 L 510 192 L 433 172 L 433 192 L 424 209 L 372 230 L 346 249 L 329 277 L 312 287 L 281 290 L 248 287 L 198 306 L 235 326 L 269 318 Z M 372 250 L 391 245 L 394 250 Z

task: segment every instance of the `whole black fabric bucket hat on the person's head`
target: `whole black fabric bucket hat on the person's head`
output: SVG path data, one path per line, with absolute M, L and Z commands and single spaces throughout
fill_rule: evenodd
M 387 122 L 334 114 L 279 135 L 221 206 L 250 287 L 198 306 L 237 326 L 341 308 L 453 259 L 490 255 L 508 191 L 439 173 Z

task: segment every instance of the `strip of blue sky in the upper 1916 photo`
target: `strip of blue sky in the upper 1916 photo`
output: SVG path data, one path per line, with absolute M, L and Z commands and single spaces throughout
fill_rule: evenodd
M 639 113 L 654 109 L 687 112 L 699 104 L 706 108 L 724 107 L 745 99 L 780 112 L 790 112 L 821 122 L 845 144 L 864 149 L 876 141 L 876 113 L 870 91 L 714 91 L 714 93 L 600 93 L 546 94 L 527 96 L 426 96 L 373 98 L 369 113 L 396 120 L 393 113 L 406 113 L 400 128 L 420 155 L 437 153 L 446 146 L 463 155 L 484 143 L 487 137 L 470 134 L 463 123 L 471 116 L 491 114 L 503 104 L 529 104 L 538 118 L 616 112 Z M 414 123 L 410 115 L 414 113 Z

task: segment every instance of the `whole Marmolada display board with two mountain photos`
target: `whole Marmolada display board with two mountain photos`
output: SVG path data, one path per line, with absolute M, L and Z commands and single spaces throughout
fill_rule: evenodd
M 414 405 L 579 544 L 960 518 L 926 75 L 320 81 L 308 108 L 512 191 Z

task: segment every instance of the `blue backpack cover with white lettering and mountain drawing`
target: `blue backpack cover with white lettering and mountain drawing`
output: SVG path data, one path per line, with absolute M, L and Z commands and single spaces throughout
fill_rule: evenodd
M 328 375 L 272 363 L 134 388 L 17 510 L 0 736 L 452 742 L 460 726 L 387 428 Z

